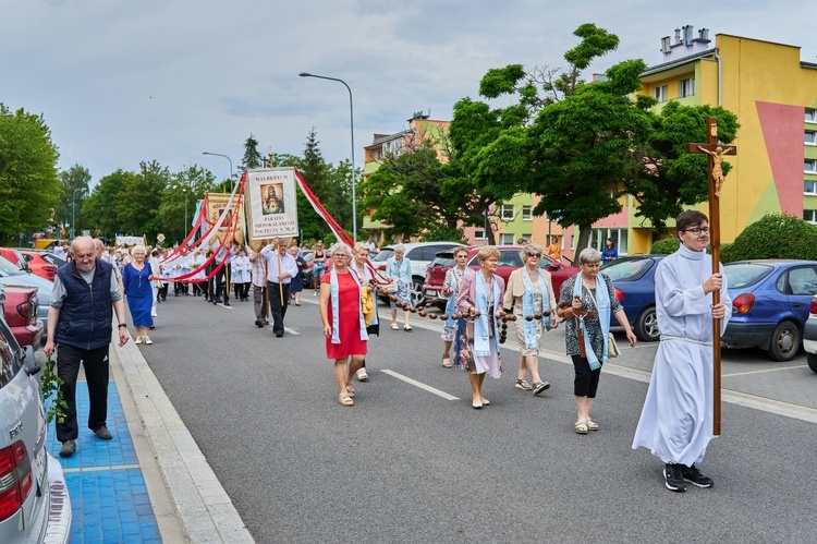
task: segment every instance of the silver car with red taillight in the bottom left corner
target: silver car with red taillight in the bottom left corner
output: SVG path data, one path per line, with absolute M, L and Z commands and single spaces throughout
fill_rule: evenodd
M 0 542 L 65 543 L 71 499 L 60 462 L 46 449 L 39 366 L 0 317 Z

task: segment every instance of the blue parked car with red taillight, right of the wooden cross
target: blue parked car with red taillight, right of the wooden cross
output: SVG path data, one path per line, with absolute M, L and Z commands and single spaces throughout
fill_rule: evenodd
M 817 294 L 817 262 L 741 261 L 723 270 L 732 318 L 721 340 L 730 348 L 758 347 L 773 361 L 794 359 Z

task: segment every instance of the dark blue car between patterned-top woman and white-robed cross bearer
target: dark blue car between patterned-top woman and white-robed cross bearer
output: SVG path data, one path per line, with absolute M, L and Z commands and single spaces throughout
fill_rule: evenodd
M 601 267 L 615 287 L 627 321 L 639 340 L 654 342 L 660 337 L 656 319 L 655 274 L 664 255 L 622 257 Z M 612 324 L 618 326 L 613 318 Z

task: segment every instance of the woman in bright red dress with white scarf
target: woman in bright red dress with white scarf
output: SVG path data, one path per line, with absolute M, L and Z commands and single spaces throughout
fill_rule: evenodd
M 334 360 L 338 402 L 354 406 L 352 376 L 366 356 L 366 322 L 361 304 L 361 285 L 349 273 L 352 250 L 337 243 L 331 249 L 332 268 L 320 278 L 320 319 L 326 336 L 326 356 Z M 365 288 L 364 288 L 365 289 Z

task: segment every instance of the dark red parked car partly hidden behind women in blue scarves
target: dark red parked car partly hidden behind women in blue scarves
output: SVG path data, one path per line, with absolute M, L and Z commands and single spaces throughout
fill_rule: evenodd
M 479 253 L 484 245 L 472 245 L 468 247 L 468 267 L 475 270 L 479 269 L 479 263 L 477 262 L 476 255 Z M 508 278 L 511 273 L 516 268 L 524 265 L 522 256 L 521 245 L 499 245 L 499 267 L 497 274 L 508 282 Z M 441 310 L 446 307 L 448 298 L 442 294 L 442 283 L 446 280 L 446 273 L 454 266 L 454 251 L 446 250 L 437 253 L 437 257 L 431 261 L 426 269 L 426 282 L 423 285 L 423 295 L 426 300 L 437 298 L 437 306 Z M 539 261 L 539 268 L 550 273 L 550 278 L 553 281 L 553 290 L 556 291 L 556 298 L 559 299 L 559 292 L 562 289 L 564 280 L 571 276 L 578 274 L 578 268 L 574 266 L 568 266 L 561 261 L 553 261 L 547 255 L 542 255 Z

